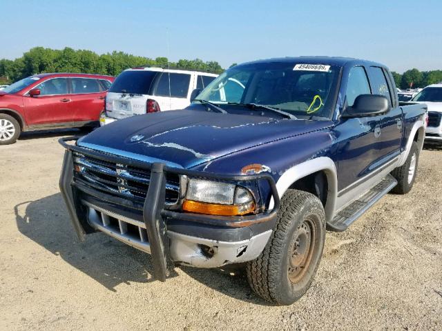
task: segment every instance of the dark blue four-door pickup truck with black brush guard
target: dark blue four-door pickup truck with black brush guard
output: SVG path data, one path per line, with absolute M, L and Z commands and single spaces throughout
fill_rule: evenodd
M 242 263 L 256 294 L 291 304 L 314 278 L 326 229 L 412 188 L 426 106 L 399 103 L 379 63 L 254 61 L 194 94 L 184 110 L 60 140 L 79 238 L 101 231 L 148 252 L 160 281 L 175 265 Z

